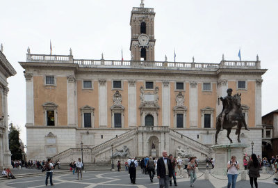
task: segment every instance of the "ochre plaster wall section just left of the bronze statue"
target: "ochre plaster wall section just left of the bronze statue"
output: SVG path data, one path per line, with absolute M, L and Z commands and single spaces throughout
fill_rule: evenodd
M 211 107 L 213 111 L 213 125 L 215 127 L 216 117 L 216 84 L 211 84 L 212 91 L 202 91 L 202 83 L 198 83 L 198 128 L 202 128 L 202 111 L 206 107 Z

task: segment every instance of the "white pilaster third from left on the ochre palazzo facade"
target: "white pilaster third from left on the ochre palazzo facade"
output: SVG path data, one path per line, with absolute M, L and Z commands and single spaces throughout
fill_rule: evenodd
M 107 115 L 106 79 L 99 79 L 99 127 L 107 127 Z

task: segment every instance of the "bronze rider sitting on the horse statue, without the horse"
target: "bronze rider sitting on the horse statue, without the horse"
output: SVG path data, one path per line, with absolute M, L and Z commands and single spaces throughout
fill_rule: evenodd
M 231 96 L 231 93 L 233 92 L 233 90 L 231 88 L 227 89 L 227 96 L 226 97 L 220 97 L 220 100 L 222 101 L 223 104 L 223 109 L 221 112 L 221 131 L 223 130 L 223 124 L 224 124 L 224 120 L 225 117 L 227 115 L 227 113 L 229 113 L 229 111 L 231 111 L 231 109 L 233 108 L 233 97 Z

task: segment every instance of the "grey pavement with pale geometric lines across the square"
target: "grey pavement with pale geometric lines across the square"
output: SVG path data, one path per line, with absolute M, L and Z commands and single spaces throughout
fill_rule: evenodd
M 204 180 L 204 175 L 202 173 L 198 173 L 197 179 L 195 182 L 195 187 L 216 187 L 222 188 L 227 187 L 227 180 L 218 180 L 217 178 L 213 178 L 210 176 L 210 180 Z M 264 178 L 268 178 L 270 175 L 265 175 Z M 262 177 L 262 178 L 263 178 Z M 222 176 L 222 179 L 227 178 Z M 273 178 L 273 177 L 272 177 Z M 274 188 L 277 187 L 275 184 L 272 183 L 272 178 L 268 180 L 261 180 L 259 182 L 259 187 L 263 188 Z M 249 180 L 247 181 L 240 181 L 238 178 L 238 182 L 236 187 L 238 188 L 246 188 L 250 187 Z M 10 187 L 18 187 L 18 188 L 25 188 L 25 187 L 45 187 L 44 185 L 45 176 L 35 176 L 35 177 L 28 177 L 28 178 L 19 178 L 15 180 L 4 180 L 0 182 L 1 188 L 10 188 Z M 65 173 L 65 174 L 54 174 L 54 187 L 66 187 L 66 188 L 78 188 L 78 187 L 86 187 L 86 188 L 101 188 L 101 187 L 108 187 L 108 188 L 117 188 L 117 187 L 138 187 L 138 188 L 145 188 L 145 187 L 158 187 L 158 179 L 154 178 L 154 182 L 150 182 L 149 175 L 145 175 L 137 171 L 136 177 L 136 184 L 131 184 L 129 180 L 129 173 L 126 171 L 91 171 L 83 173 L 83 180 L 76 180 L 76 174 L 72 175 L 72 173 Z M 190 179 L 189 178 L 177 178 L 178 187 L 190 187 Z M 49 183 L 50 185 L 50 183 Z M 174 187 L 174 186 L 173 186 Z

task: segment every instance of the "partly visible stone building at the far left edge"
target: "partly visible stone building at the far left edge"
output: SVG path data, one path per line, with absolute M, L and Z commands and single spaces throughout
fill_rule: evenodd
M 11 154 L 8 141 L 8 77 L 17 72 L 3 54 L 3 45 L 0 50 L 0 169 L 11 166 Z

